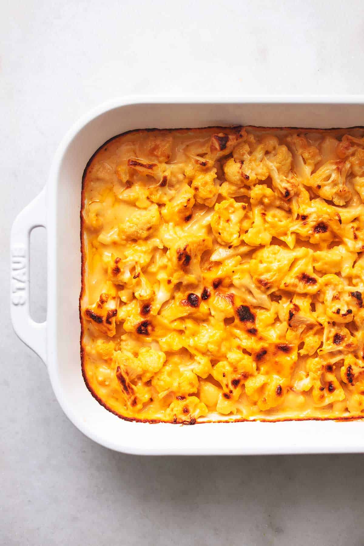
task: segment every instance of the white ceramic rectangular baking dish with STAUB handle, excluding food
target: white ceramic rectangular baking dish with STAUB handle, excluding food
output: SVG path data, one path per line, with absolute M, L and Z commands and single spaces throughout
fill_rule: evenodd
M 11 231 L 11 318 L 17 335 L 45 361 L 69 419 L 96 442 L 136 454 L 278 454 L 364 452 L 364 422 L 206 423 L 124 421 L 91 396 L 81 375 L 81 179 L 106 140 L 129 129 L 252 124 L 267 127 L 364 125 L 364 96 L 232 99 L 122 99 L 83 117 L 65 136 L 43 191 Z M 29 233 L 47 229 L 47 321 L 29 316 Z M 38 393 L 41 396 L 41 393 Z

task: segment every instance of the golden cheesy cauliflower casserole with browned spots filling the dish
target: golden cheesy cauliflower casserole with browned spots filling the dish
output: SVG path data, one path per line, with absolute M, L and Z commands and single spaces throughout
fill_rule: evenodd
M 364 416 L 363 130 L 137 130 L 83 175 L 83 377 L 126 419 Z

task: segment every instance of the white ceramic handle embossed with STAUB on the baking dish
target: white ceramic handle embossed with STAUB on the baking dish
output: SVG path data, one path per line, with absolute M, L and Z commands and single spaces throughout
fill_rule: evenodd
M 46 227 L 46 191 L 15 218 L 10 235 L 10 313 L 17 336 L 46 361 L 46 321 L 35 322 L 29 312 L 29 241 L 33 228 Z

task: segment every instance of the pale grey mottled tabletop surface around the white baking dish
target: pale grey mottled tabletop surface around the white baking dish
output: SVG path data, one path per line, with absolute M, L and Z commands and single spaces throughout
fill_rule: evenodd
M 364 544 L 362 455 L 111 452 L 68 422 L 8 303 L 11 222 L 77 117 L 123 94 L 363 93 L 363 21 L 362 0 L 0 2 L 0 544 Z

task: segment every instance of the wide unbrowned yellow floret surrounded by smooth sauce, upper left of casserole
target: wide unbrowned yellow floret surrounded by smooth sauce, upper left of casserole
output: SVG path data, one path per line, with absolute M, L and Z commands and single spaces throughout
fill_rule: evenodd
M 158 206 L 151 205 L 146 210 L 138 210 L 119 225 L 118 235 L 121 240 L 146 239 L 159 227 L 160 215 Z

